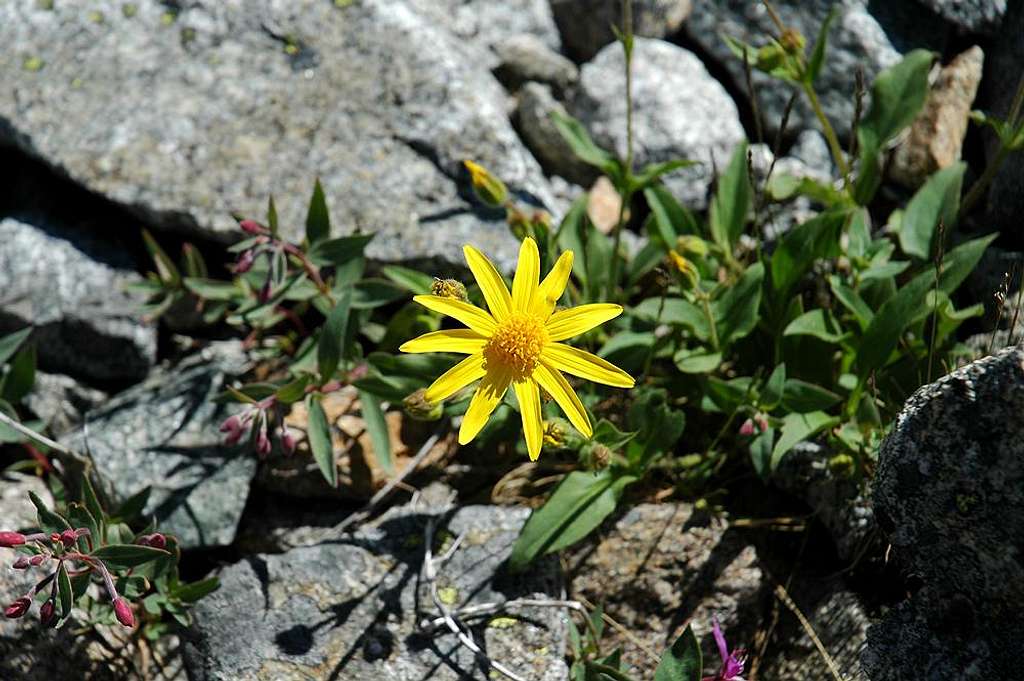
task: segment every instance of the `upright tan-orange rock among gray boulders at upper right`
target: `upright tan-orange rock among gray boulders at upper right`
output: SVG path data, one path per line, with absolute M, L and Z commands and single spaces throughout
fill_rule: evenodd
M 915 188 L 936 170 L 959 160 L 984 59 L 976 45 L 939 71 L 924 109 L 893 152 L 889 167 L 893 180 Z

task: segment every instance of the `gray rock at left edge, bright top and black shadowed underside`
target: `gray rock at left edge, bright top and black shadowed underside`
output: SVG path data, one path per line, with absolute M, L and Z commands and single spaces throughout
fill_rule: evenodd
M 35 326 L 47 371 L 100 381 L 145 376 L 157 332 L 141 321 L 143 300 L 127 291 L 139 281 L 129 259 L 84 233 L 14 218 L 0 220 L 0 335 Z

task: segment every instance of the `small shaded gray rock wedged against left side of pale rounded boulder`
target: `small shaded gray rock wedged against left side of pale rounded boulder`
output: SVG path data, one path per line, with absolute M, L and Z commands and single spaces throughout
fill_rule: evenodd
M 589 186 L 600 174 L 581 161 L 558 133 L 552 114 L 566 115 L 565 107 L 551 88 L 541 83 L 526 83 L 516 95 L 516 123 L 519 134 L 544 169 L 577 184 Z

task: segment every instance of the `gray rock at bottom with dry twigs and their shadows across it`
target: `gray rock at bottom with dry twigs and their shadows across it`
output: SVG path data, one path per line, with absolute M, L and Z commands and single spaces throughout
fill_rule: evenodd
M 437 546 L 463 542 L 438 571 L 438 593 L 453 607 L 507 598 L 557 598 L 558 562 L 521 577 L 503 571 L 529 514 L 521 508 L 466 507 L 441 521 Z M 359 534 L 279 555 L 254 555 L 220 573 L 221 588 L 196 607 L 185 648 L 193 681 L 492 678 L 441 630 L 422 579 L 427 516 L 392 510 Z M 487 655 L 524 678 L 560 681 L 564 613 L 530 608 L 514 620 L 483 618 L 472 633 Z

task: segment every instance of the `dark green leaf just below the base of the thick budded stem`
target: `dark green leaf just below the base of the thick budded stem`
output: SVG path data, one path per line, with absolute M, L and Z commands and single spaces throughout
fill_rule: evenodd
M 785 301 L 815 260 L 839 255 L 839 236 L 849 211 L 829 209 L 790 230 L 771 256 L 776 300 Z

